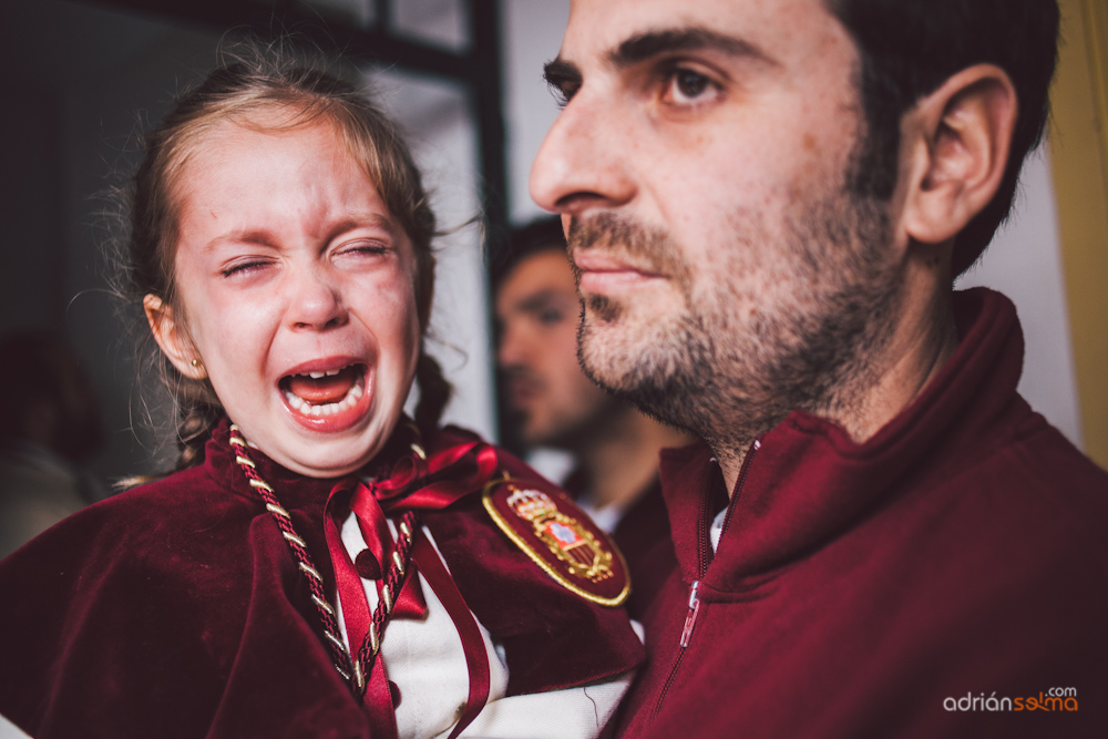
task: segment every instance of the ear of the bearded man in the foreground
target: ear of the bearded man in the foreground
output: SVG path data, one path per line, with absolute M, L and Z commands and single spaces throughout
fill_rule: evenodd
M 905 114 L 901 172 L 906 165 L 903 218 L 910 237 L 945 243 L 988 204 L 1004 178 L 1016 112 L 1007 73 L 976 64 Z

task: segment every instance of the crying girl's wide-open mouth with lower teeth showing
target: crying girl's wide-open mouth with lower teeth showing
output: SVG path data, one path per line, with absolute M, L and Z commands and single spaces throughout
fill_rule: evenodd
M 280 380 L 285 404 L 309 428 L 346 427 L 360 415 L 367 398 L 366 365 L 287 374 Z

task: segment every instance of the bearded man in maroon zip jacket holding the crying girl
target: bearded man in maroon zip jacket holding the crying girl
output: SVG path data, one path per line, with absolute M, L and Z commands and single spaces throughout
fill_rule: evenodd
M 706 442 L 663 458 L 680 567 L 623 736 L 1108 736 L 1108 474 L 1017 394 L 1010 301 L 952 290 L 1057 29 L 1054 0 L 573 0 L 531 189 L 582 363 Z

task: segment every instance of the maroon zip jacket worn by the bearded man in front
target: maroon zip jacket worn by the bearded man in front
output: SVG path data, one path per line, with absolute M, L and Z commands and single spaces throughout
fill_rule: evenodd
M 718 466 L 664 455 L 680 572 L 622 736 L 1108 737 L 1108 474 L 1017 394 L 1013 305 L 955 312 L 954 357 L 864 444 L 801 412 L 759 439 L 715 556 Z

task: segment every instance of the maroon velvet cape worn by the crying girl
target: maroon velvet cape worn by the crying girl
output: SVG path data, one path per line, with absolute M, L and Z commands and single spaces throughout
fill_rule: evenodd
M 227 438 L 224 422 L 203 465 L 88 507 L 0 563 L 0 714 L 40 739 L 370 736 L 307 584 Z M 448 429 L 424 445 L 433 453 L 473 439 Z M 553 490 L 497 452 L 502 470 Z M 334 594 L 322 516 L 337 481 L 253 456 Z M 480 493 L 424 523 L 505 647 L 510 695 L 642 661 L 624 610 L 557 585 L 495 527 Z

